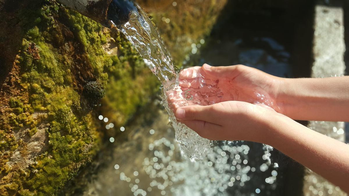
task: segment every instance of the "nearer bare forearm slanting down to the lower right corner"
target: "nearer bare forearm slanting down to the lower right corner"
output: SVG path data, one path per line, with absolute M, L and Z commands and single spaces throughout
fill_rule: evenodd
M 268 125 L 267 144 L 349 193 L 349 145 L 277 116 Z

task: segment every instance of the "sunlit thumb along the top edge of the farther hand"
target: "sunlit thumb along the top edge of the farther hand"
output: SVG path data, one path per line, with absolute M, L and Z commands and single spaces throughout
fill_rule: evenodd
M 205 63 L 202 66 L 202 70 L 211 77 L 232 79 L 240 73 L 243 67 L 243 65 L 213 67 Z

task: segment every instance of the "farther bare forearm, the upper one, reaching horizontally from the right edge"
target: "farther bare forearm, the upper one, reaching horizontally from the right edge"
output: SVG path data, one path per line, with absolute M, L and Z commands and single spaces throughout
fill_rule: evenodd
M 280 113 L 296 120 L 349 121 L 349 76 L 281 80 Z

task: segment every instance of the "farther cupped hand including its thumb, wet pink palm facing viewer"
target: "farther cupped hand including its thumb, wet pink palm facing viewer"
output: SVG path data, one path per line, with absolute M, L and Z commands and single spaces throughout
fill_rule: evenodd
M 262 103 L 279 111 L 275 99 L 281 83 L 282 78 L 243 65 L 211 67 L 204 64 L 202 67 L 182 70 L 179 85 L 183 91 L 196 90 L 200 94 L 207 95 L 211 104 L 223 101 L 245 101 Z M 206 87 L 208 85 L 216 85 L 222 94 L 216 96 L 212 92 L 213 88 Z

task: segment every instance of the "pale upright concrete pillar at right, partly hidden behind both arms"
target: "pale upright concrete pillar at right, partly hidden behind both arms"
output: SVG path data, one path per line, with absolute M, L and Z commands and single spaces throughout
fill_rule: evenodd
M 344 74 L 344 20 L 342 7 L 315 6 L 312 77 L 334 77 Z M 333 87 L 335 88 L 335 86 Z M 309 128 L 345 141 L 344 122 L 311 121 Z M 326 148 L 324 144 L 324 148 Z M 328 152 L 331 153 L 331 152 Z M 347 195 L 321 176 L 306 169 L 304 196 Z

